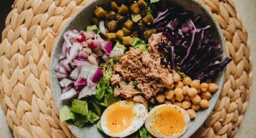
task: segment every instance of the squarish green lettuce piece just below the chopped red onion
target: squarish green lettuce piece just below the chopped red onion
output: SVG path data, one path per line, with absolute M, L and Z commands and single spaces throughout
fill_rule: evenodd
M 81 115 L 87 115 L 88 104 L 86 101 L 74 99 L 72 100 L 72 106 L 70 111 L 73 113 L 81 114 Z

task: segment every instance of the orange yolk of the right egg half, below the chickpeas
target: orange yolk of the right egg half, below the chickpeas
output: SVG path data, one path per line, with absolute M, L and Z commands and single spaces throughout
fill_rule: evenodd
M 158 128 L 161 134 L 171 136 L 174 133 L 182 133 L 186 125 L 183 112 L 173 106 L 159 107 L 151 116 L 154 118 L 150 129 L 155 131 Z

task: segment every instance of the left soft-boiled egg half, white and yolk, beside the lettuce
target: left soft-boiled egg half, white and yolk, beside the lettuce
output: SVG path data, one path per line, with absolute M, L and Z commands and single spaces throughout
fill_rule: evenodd
M 108 106 L 101 116 L 101 128 L 111 137 L 126 137 L 144 124 L 148 110 L 133 101 L 117 101 Z

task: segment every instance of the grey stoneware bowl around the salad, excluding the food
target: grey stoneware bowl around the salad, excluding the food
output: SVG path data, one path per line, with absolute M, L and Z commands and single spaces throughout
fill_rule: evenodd
M 63 102 L 60 100 L 61 95 L 61 88 L 54 70 L 54 67 L 58 64 L 58 58 L 61 55 L 61 46 L 63 44 L 63 34 L 66 31 L 71 29 L 77 29 L 78 31 L 86 28 L 87 25 L 90 25 L 91 17 L 93 15 L 93 11 L 97 5 L 101 5 L 104 8 L 108 8 L 107 5 L 111 0 L 92 0 L 89 4 L 84 5 L 78 13 L 76 13 L 64 26 L 60 34 L 58 35 L 57 40 L 55 41 L 54 48 L 52 50 L 51 55 L 51 66 L 50 66 L 50 79 L 51 79 L 51 90 L 52 95 L 54 97 L 55 104 L 57 109 L 60 110 L 63 106 Z M 197 2 L 196 0 L 168 0 L 173 5 L 181 5 L 184 10 L 191 11 L 194 16 L 201 15 L 203 17 L 201 22 L 204 22 L 205 25 L 211 25 L 211 34 L 213 34 L 213 40 L 219 41 L 223 54 L 222 58 L 226 57 L 226 50 L 225 50 L 225 40 L 223 38 L 221 29 L 217 21 L 214 19 L 213 14 L 202 4 Z M 224 82 L 225 70 L 221 71 L 214 82 L 217 83 L 219 89 L 217 92 L 213 94 L 213 97 L 210 99 L 209 103 L 210 106 L 208 109 L 202 109 L 196 112 L 196 118 L 190 121 L 189 128 L 186 133 L 183 134 L 182 137 L 190 137 L 199 127 L 204 123 L 205 119 L 207 119 L 208 115 L 210 115 L 211 111 L 213 110 L 217 99 L 219 98 L 223 82 Z M 107 135 L 101 133 L 96 124 L 85 126 L 83 128 L 78 128 L 69 122 L 66 122 L 67 127 L 72 131 L 72 133 L 76 137 L 107 137 Z

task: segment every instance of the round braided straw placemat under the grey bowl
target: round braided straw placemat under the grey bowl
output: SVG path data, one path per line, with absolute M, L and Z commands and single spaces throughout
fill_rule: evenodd
M 49 83 L 55 38 L 73 13 L 90 0 L 16 0 L 0 44 L 2 110 L 14 137 L 73 137 L 58 119 Z M 232 0 L 200 0 L 211 9 L 233 61 L 211 115 L 195 137 L 233 137 L 248 106 L 252 59 L 247 32 Z

